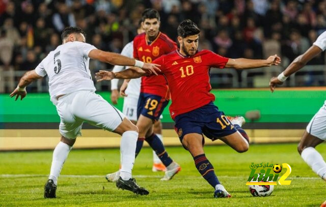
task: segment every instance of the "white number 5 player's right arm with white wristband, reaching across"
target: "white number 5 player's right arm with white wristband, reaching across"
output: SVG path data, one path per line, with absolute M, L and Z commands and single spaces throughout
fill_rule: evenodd
M 102 51 L 100 49 L 92 49 L 88 56 L 92 59 L 99 60 L 105 63 L 110 63 L 112 65 L 140 67 L 145 71 L 149 71 L 149 73 L 154 73 L 155 75 L 157 75 L 157 72 L 160 72 L 160 69 L 158 68 L 160 65 L 153 63 L 144 63 L 139 60 L 128 58 L 117 53 Z

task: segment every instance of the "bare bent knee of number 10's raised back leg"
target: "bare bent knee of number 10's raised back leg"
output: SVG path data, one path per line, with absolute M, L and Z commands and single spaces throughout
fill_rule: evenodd
M 249 149 L 247 140 L 238 131 L 231 135 L 221 137 L 220 140 L 232 147 L 237 152 L 245 152 Z

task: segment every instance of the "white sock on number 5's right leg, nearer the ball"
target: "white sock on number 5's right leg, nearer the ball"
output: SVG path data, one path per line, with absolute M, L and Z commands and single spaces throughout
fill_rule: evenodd
M 121 153 L 121 169 L 120 177 L 123 180 L 131 178 L 131 170 L 134 163 L 138 132 L 126 131 L 122 134 L 120 153 Z

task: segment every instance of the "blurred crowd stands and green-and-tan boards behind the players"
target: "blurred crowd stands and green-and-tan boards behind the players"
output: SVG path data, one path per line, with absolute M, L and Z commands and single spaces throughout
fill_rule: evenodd
M 138 20 L 145 8 L 155 8 L 161 16 L 160 30 L 176 40 L 178 23 L 191 18 L 201 28 L 199 49 L 211 49 L 230 58 L 266 58 L 278 54 L 278 67 L 247 71 L 211 69 L 211 85 L 216 105 L 228 115 L 259 110 L 261 118 L 247 120 L 244 128 L 256 142 L 297 141 L 307 122 L 322 104 L 325 54 L 309 62 L 292 75 L 273 95 L 267 89 L 271 76 L 282 71 L 302 54 L 326 29 L 326 1 L 122 1 L 60 0 L 0 1 L 0 150 L 53 148 L 59 136 L 59 117 L 49 101 L 47 78 L 28 87 L 28 97 L 14 102 L 8 97 L 19 77 L 34 69 L 49 51 L 61 44 L 64 27 L 75 26 L 87 33 L 87 42 L 99 49 L 120 53 L 136 34 Z M 91 60 L 91 71 L 110 69 L 112 65 Z M 95 83 L 98 92 L 110 101 L 110 82 Z M 231 88 L 221 90 L 221 88 Z M 233 88 L 233 89 L 232 89 Z M 236 88 L 236 89 L 235 89 Z M 122 109 L 123 99 L 118 108 Z M 309 106 L 309 107 L 307 107 Z M 167 145 L 179 145 L 173 121 L 164 111 L 164 135 Z M 84 135 L 94 127 L 84 125 Z M 37 130 L 42 129 L 42 130 Z M 43 130 L 52 130 L 39 133 Z M 265 130 L 265 131 L 259 131 Z M 269 130 L 269 131 L 268 131 Z M 275 134 L 273 130 L 278 131 Z M 285 130 L 285 131 L 284 131 Z M 290 130 L 290 131 L 289 131 Z M 292 130 L 292 131 L 291 131 Z M 44 131 L 43 131 L 44 132 Z M 116 137 L 100 133 L 95 137 Z M 256 132 L 256 133 L 255 133 Z M 28 135 L 26 135 L 28 134 Z M 46 134 L 46 135 L 45 135 Z M 90 133 L 94 136 L 94 133 Z M 91 137 L 92 137 L 91 136 Z M 41 139 L 51 137 L 52 141 Z M 290 139 L 286 139 L 290 137 Z M 26 139 L 29 138 L 29 145 Z M 36 145 L 43 140 L 44 145 Z M 113 141 L 114 140 L 114 141 Z M 85 141 L 80 147 L 118 146 L 119 139 Z M 78 142 L 76 147 L 78 147 Z

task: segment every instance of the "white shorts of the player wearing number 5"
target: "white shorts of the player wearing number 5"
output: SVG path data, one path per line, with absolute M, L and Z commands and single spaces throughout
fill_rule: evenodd
M 60 116 L 59 131 L 68 139 L 82 135 L 84 121 L 114 131 L 124 119 L 124 115 L 93 91 L 76 91 L 59 98 L 57 111 Z

